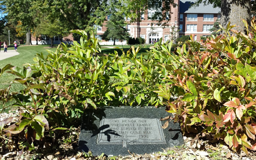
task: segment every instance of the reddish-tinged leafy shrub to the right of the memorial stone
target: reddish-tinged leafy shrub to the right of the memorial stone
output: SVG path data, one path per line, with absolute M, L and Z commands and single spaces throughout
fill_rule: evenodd
M 171 61 L 165 78 L 169 91 L 155 92 L 167 100 L 166 111 L 174 113 L 183 132 L 205 132 L 248 154 L 256 150 L 256 23 L 251 29 L 244 23 L 248 35 L 228 25 L 224 35 L 205 41 L 204 51 L 200 43 L 187 41 Z M 178 98 L 164 96 L 170 93 Z

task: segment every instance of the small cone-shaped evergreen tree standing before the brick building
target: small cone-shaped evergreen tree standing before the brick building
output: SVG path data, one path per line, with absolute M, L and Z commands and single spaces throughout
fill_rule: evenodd
M 126 29 L 126 23 L 123 15 L 113 14 L 110 16 L 109 21 L 107 22 L 107 31 L 102 35 L 102 39 L 109 40 L 113 39 L 114 44 L 116 39 L 119 40 L 127 40 L 129 37 L 129 33 Z

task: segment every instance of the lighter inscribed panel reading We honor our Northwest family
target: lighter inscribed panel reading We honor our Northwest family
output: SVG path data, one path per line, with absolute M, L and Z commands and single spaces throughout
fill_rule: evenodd
M 108 126 L 103 127 L 103 126 Z M 100 121 L 97 144 L 165 144 L 159 119 L 116 118 Z

